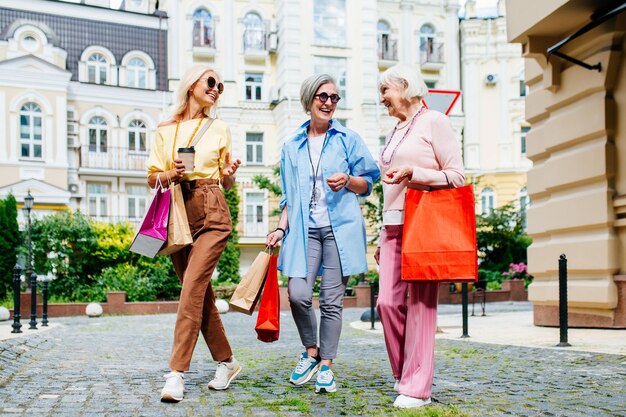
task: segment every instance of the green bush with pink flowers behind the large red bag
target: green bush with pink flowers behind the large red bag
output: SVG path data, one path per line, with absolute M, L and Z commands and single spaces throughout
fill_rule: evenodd
M 524 213 L 513 203 L 476 217 L 480 268 L 505 272 L 509 264 L 527 261 L 532 239 L 524 231 Z

